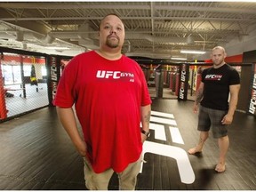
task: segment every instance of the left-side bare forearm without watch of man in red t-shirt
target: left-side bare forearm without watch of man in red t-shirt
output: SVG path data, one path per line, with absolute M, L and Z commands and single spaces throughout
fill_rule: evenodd
M 76 116 L 74 114 L 73 108 L 60 108 L 56 107 L 57 114 L 60 118 L 60 123 L 68 132 L 70 139 L 76 147 L 76 150 L 81 156 L 86 155 L 86 144 L 78 132 L 76 125 Z

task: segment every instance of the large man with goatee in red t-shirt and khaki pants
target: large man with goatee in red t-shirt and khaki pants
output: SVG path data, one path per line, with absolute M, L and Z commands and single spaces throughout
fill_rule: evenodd
M 116 14 L 101 20 L 99 36 L 99 50 L 77 55 L 63 70 L 53 104 L 84 157 L 86 188 L 108 189 L 116 172 L 120 189 L 135 189 L 142 144 L 149 136 L 148 86 L 139 64 L 121 53 L 124 24 Z

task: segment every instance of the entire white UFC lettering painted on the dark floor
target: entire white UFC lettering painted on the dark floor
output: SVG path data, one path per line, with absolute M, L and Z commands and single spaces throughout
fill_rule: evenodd
M 182 140 L 182 137 L 180 135 L 179 128 L 177 127 L 176 121 L 174 120 L 174 116 L 172 114 L 151 111 L 151 115 L 153 116 L 150 116 L 149 129 L 155 131 L 155 139 L 166 140 L 164 124 L 169 124 L 172 125 L 169 126 L 172 142 L 184 144 L 184 141 Z M 154 122 L 156 124 L 153 124 L 151 122 Z M 143 159 L 146 153 L 152 153 L 160 156 L 169 156 L 171 158 L 174 158 L 178 165 L 181 182 L 191 184 L 195 181 L 195 173 L 189 162 L 188 154 L 183 148 L 178 148 L 146 140 L 143 144 Z M 141 163 L 140 173 L 142 172 L 142 168 L 143 162 Z

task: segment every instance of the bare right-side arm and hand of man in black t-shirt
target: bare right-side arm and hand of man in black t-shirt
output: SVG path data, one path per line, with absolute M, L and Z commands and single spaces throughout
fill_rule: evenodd
M 229 100 L 228 114 L 223 117 L 223 119 L 221 121 L 222 124 L 231 124 L 232 123 L 233 116 L 236 111 L 239 90 L 240 90 L 240 84 L 229 85 L 230 100 Z

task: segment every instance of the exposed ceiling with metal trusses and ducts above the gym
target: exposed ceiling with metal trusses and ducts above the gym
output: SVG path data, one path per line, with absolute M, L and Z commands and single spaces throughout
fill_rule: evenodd
M 180 50 L 209 52 L 250 36 L 255 10 L 255 2 L 0 2 L 0 46 L 74 56 L 98 48 L 100 20 L 115 12 L 128 56 L 194 60 Z

